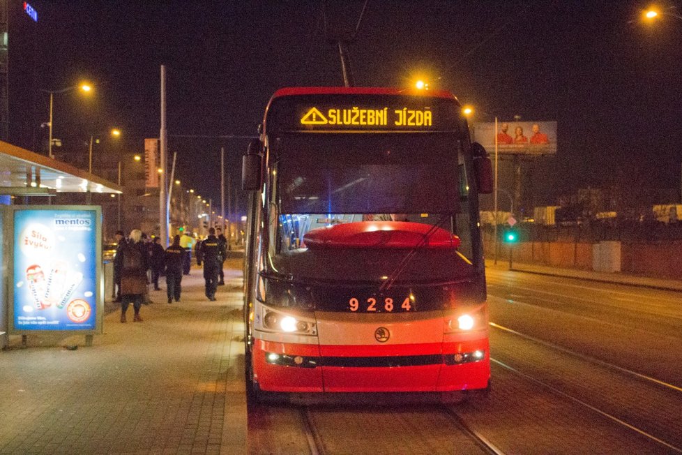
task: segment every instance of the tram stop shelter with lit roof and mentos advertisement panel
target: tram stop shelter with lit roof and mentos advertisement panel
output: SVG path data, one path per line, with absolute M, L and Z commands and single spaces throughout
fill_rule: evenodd
M 24 334 L 17 325 L 82 332 L 90 341 L 102 330 L 101 208 L 34 205 L 28 198 L 122 192 L 101 177 L 0 141 L 0 349 L 9 334 Z M 12 196 L 24 204 L 12 204 Z M 73 258 L 55 257 L 65 252 Z M 21 298 L 26 302 L 17 304 Z

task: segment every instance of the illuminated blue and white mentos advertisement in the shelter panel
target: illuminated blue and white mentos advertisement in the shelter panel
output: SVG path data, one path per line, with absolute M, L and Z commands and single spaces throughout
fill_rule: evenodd
M 14 212 L 16 331 L 94 330 L 97 210 Z

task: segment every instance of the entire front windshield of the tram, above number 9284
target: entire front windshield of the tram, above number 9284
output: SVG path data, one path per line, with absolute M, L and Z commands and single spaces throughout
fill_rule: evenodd
M 471 273 L 466 173 L 453 133 L 287 133 L 270 147 L 273 273 L 349 283 Z

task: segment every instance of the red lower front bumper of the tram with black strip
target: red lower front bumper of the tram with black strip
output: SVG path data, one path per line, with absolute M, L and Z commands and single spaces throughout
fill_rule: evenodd
M 253 364 L 264 391 L 456 391 L 483 389 L 490 378 L 487 338 L 391 346 L 257 340 Z

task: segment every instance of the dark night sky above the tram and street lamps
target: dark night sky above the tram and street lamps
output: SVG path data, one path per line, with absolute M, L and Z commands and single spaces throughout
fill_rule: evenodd
M 36 0 L 40 87 L 98 84 L 92 100 L 55 98 L 55 137 L 116 125 L 142 152 L 158 137 L 165 64 L 178 177 L 219 200 L 220 147 L 238 184 L 248 140 L 218 136 L 255 135 L 279 87 L 342 85 L 325 29 L 352 31 L 363 4 Z M 526 165 L 536 202 L 606 185 L 679 195 L 682 20 L 644 24 L 646 6 L 369 0 L 349 46 L 355 83 L 406 87 L 420 75 L 473 105 L 475 121 L 557 121 L 557 155 Z

